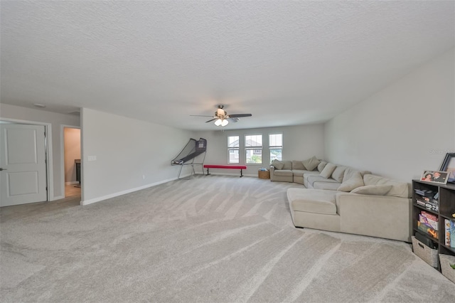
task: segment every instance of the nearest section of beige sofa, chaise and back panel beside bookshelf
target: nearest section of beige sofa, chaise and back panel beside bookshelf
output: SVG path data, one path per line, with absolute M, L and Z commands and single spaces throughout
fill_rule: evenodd
M 410 242 L 410 184 L 373 174 L 364 174 L 362 181 L 363 186 L 351 191 L 289 188 L 287 198 L 294 225 Z M 349 188 L 350 184 L 343 187 Z

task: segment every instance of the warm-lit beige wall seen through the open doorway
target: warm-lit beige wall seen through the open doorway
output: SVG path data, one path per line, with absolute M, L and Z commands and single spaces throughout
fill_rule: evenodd
M 64 127 L 65 183 L 76 182 L 75 159 L 80 159 L 80 129 Z

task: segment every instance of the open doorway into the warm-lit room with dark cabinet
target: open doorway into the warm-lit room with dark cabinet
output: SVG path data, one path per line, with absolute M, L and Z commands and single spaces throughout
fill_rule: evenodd
M 63 127 L 65 198 L 80 198 L 80 128 Z

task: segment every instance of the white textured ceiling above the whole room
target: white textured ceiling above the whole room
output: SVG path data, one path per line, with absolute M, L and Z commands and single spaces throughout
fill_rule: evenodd
M 454 47 L 454 1 L 1 1 L 1 102 L 322 122 Z

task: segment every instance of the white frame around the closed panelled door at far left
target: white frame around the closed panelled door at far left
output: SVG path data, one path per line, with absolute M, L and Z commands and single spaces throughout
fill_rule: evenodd
M 48 187 L 47 191 L 47 201 L 53 201 L 54 198 L 54 174 L 53 174 L 53 156 L 52 156 L 52 124 L 45 122 L 36 122 L 20 119 L 9 119 L 0 117 L 1 121 L 17 123 L 17 124 L 31 124 L 31 125 L 43 125 L 45 129 L 45 159 L 46 159 L 46 169 L 48 171 L 46 177 L 46 186 Z

